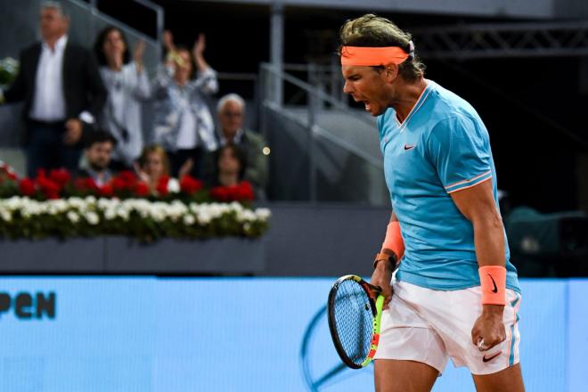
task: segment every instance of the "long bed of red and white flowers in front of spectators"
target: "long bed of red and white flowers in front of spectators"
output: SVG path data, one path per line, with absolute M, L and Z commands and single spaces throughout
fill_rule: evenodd
M 199 180 L 162 180 L 156 193 L 123 172 L 102 187 L 88 178 L 72 180 L 65 170 L 19 180 L 0 166 L 0 237 L 126 235 L 139 241 L 161 238 L 257 238 L 270 211 L 252 208 L 248 183 L 206 189 Z M 220 201 L 220 202 L 219 202 Z

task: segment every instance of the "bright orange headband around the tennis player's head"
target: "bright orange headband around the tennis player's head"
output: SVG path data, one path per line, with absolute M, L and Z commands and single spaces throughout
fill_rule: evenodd
M 402 64 L 414 56 L 414 45 L 410 42 L 410 53 L 399 46 L 363 47 L 343 46 L 341 48 L 341 65 L 379 66 L 390 62 Z

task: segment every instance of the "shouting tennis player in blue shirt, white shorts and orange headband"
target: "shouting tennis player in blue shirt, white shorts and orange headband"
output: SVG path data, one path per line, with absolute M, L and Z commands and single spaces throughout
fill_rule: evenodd
M 430 391 L 451 358 L 478 391 L 523 391 L 519 282 L 482 119 L 424 78 L 390 20 L 347 20 L 341 43 L 345 93 L 378 116 L 393 209 L 372 275 L 386 297 L 376 390 Z

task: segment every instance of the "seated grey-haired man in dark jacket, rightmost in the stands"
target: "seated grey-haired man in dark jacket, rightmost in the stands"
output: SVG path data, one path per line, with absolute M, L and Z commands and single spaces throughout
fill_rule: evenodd
M 269 171 L 269 148 L 263 136 L 243 129 L 245 101 L 238 94 L 227 94 L 218 101 L 216 111 L 220 124 L 217 143 L 221 146 L 233 143 L 243 151 L 247 162 L 243 179 L 249 181 L 263 199 Z M 214 155 L 209 154 L 205 162 L 207 176 L 215 169 L 214 162 Z

